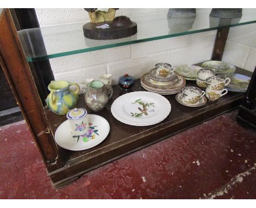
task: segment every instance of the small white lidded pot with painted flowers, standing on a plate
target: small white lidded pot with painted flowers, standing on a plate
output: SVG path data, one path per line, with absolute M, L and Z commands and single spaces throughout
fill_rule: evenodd
M 66 116 L 74 135 L 80 136 L 88 132 L 89 123 L 86 109 L 74 108 Z

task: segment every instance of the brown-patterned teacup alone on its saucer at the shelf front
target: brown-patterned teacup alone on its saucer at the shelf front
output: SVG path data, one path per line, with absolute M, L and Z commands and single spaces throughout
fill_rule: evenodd
M 182 89 L 182 93 L 184 94 L 183 102 L 188 104 L 194 104 L 198 102 L 203 95 L 205 95 L 205 91 L 193 86 L 184 87 Z

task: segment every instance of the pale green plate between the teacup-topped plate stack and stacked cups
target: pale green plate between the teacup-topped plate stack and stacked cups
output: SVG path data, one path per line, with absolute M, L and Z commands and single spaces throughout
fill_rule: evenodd
M 202 69 L 200 66 L 195 65 L 179 65 L 176 66 L 175 71 L 182 75 L 187 80 L 196 80 L 197 72 Z

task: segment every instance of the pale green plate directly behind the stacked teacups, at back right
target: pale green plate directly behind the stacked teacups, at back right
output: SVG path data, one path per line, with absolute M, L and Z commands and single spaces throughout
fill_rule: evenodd
M 202 68 L 214 69 L 216 74 L 232 74 L 236 71 L 234 65 L 219 60 L 210 60 L 202 63 Z

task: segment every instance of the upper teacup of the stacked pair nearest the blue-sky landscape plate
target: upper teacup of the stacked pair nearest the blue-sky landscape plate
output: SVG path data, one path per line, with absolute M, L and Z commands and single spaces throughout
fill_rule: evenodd
M 206 87 L 211 90 L 222 90 L 230 83 L 230 78 L 216 75 L 208 77 L 206 80 Z

